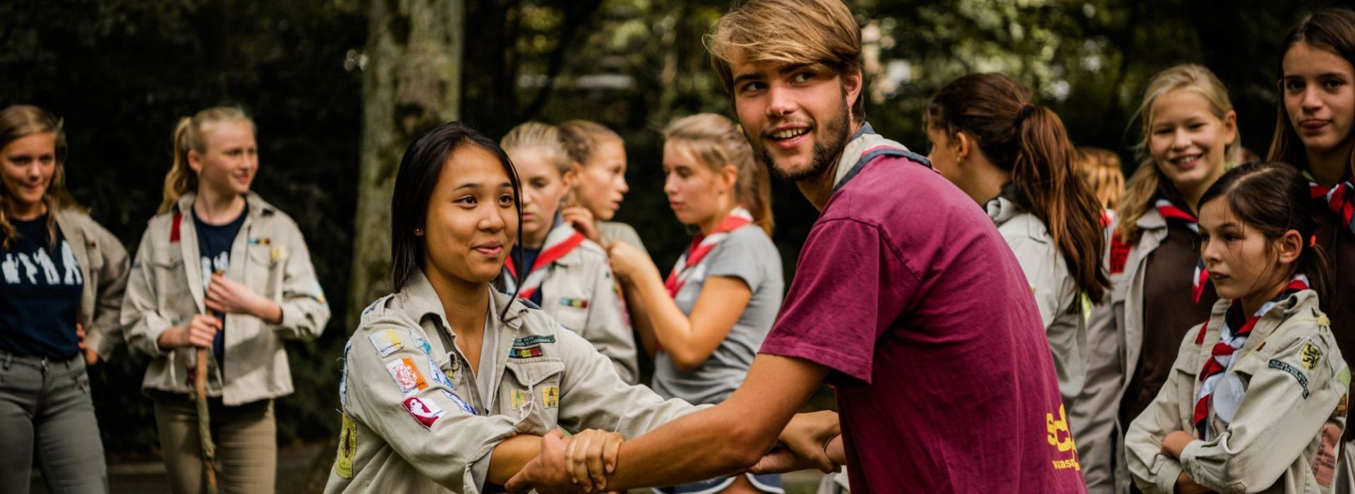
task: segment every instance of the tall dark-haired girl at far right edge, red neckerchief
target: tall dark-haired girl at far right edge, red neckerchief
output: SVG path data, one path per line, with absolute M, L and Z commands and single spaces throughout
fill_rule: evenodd
M 1328 314 L 1346 355 L 1355 355 L 1355 12 L 1324 8 L 1280 43 L 1280 93 L 1270 160 L 1298 168 L 1317 207 L 1317 244 L 1332 271 Z M 1355 432 L 1344 436 L 1339 491 L 1355 491 Z

